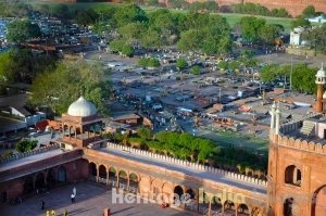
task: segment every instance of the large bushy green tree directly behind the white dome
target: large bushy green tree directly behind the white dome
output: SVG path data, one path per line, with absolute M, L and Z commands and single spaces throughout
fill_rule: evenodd
M 99 63 L 65 60 L 59 62 L 55 69 L 46 71 L 35 78 L 28 104 L 35 107 L 48 106 L 54 113 L 62 114 L 84 94 L 96 104 L 100 113 L 106 114 L 105 99 L 110 89 L 110 82 L 104 79 Z

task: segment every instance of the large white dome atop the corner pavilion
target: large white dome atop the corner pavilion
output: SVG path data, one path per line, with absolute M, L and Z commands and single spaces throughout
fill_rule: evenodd
M 71 116 L 87 117 L 97 114 L 97 109 L 91 102 L 80 97 L 70 105 L 67 114 Z

